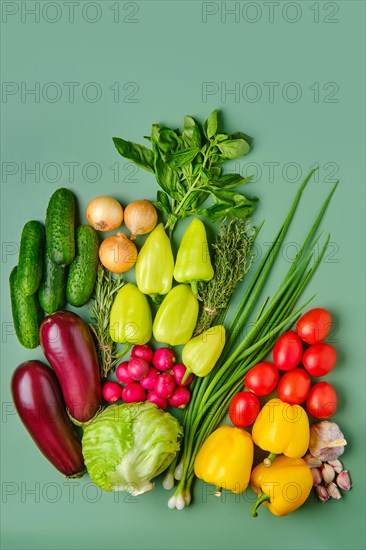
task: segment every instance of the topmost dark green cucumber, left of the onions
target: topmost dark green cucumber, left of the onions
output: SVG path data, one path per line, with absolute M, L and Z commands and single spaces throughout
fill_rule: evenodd
M 68 265 L 75 257 L 75 197 L 64 187 L 57 189 L 48 203 L 46 250 L 58 265 Z

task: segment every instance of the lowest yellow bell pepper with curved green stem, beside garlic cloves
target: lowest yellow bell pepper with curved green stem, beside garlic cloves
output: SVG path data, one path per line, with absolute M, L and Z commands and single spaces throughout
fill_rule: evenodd
M 252 508 L 256 517 L 262 503 L 275 516 L 286 516 L 302 506 L 313 486 L 313 476 L 302 458 L 278 456 L 270 468 L 258 464 L 250 478 L 259 498 Z

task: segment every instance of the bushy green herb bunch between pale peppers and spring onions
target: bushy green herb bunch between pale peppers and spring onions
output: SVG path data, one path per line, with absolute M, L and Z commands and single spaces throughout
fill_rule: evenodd
M 215 275 L 211 281 L 198 283 L 198 298 L 202 308 L 195 334 L 210 328 L 220 311 L 228 307 L 231 296 L 249 271 L 254 254 L 251 252 L 257 231 L 248 220 L 223 220 L 212 245 Z

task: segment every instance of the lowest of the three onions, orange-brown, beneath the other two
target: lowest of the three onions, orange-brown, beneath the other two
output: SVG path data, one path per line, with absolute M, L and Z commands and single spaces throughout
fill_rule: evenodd
M 111 235 L 99 247 L 99 259 L 112 273 L 124 273 L 137 261 L 137 248 L 124 233 Z

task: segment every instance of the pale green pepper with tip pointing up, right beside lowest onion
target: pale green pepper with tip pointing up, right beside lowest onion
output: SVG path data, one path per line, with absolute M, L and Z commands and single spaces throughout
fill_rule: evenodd
M 141 292 L 154 300 L 172 288 L 174 258 L 170 240 L 159 223 L 141 248 L 136 263 L 136 283 Z

